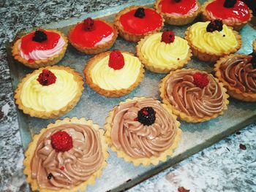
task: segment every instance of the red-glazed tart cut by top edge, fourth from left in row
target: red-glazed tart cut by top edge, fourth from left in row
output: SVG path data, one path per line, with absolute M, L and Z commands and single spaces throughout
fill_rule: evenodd
M 200 13 L 197 0 L 157 0 L 154 7 L 162 13 L 165 22 L 173 26 L 192 23 Z

